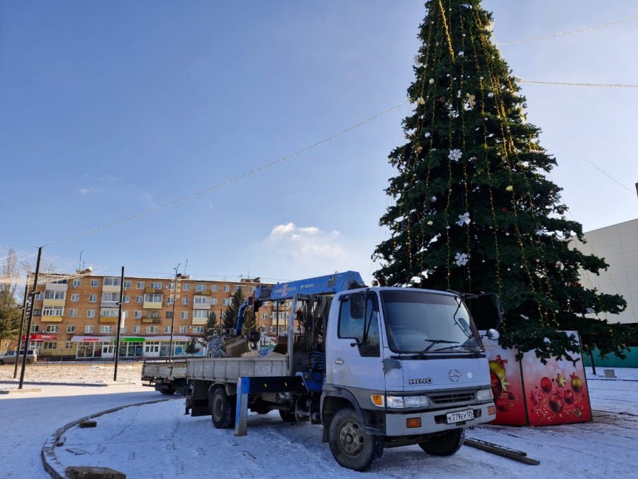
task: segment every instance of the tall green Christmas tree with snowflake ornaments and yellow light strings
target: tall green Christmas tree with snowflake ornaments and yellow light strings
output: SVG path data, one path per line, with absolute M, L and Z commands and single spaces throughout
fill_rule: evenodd
M 413 112 L 381 217 L 376 278 L 459 292 L 496 292 L 505 311 L 500 343 L 521 352 L 575 358 L 583 346 L 620 353 L 627 330 L 608 324 L 622 297 L 582 285 L 578 271 L 607 265 L 570 243 L 582 226 L 566 219 L 561 188 L 545 176 L 556 160 L 527 123 L 525 97 L 491 42 L 480 0 L 431 0 L 420 26 Z M 596 317 L 593 317 L 597 314 Z

